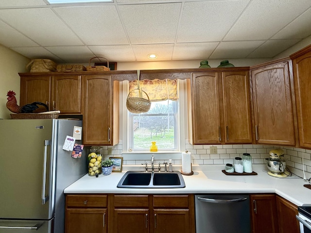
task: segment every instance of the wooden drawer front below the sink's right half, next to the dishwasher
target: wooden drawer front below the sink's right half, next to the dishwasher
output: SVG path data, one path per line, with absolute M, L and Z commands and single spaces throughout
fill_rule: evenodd
M 189 195 L 154 195 L 154 207 L 189 207 Z

